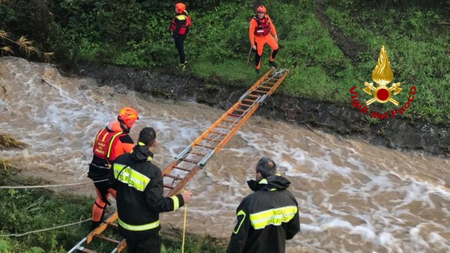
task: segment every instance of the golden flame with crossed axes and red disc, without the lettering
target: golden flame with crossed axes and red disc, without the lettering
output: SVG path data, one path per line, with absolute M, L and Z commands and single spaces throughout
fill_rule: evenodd
M 394 95 L 401 92 L 402 89 L 399 88 L 401 83 L 393 83 L 391 87 L 387 87 L 387 84 L 389 84 L 392 79 L 394 79 L 394 74 L 392 73 L 391 65 L 383 45 L 380 55 L 378 56 L 377 66 L 375 66 L 374 71 L 372 71 L 372 80 L 379 86 L 375 88 L 373 83 L 364 83 L 366 86 L 366 88 L 363 89 L 365 93 L 372 95 L 372 91 L 374 91 L 374 98 L 367 100 L 366 104 L 370 105 L 375 101 L 379 103 L 386 103 L 389 101 L 398 106 L 398 102 L 392 98 L 392 91 L 394 92 Z

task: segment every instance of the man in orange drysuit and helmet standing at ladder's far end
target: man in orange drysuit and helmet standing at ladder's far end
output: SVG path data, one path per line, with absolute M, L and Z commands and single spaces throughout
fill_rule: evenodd
M 275 38 L 270 35 L 270 33 L 272 33 Z M 249 36 L 252 49 L 257 51 L 255 54 L 255 71 L 259 74 L 262 49 L 266 43 L 272 48 L 269 65 L 277 67 L 275 56 L 278 53 L 278 36 L 272 20 L 266 14 L 266 7 L 261 5 L 257 8 L 257 14 L 250 21 Z

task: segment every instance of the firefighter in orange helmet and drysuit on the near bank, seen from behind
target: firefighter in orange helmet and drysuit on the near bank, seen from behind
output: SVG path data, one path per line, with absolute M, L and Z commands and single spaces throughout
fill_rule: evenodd
M 88 178 L 93 181 L 107 179 L 111 164 L 117 156 L 133 150 L 135 145 L 128 133 L 138 119 L 135 109 L 124 107 L 119 111 L 117 121 L 99 130 L 92 149 L 94 156 L 89 164 Z M 116 191 L 109 187 L 108 182 L 95 182 L 94 186 L 97 200 L 92 208 L 92 229 L 102 222 L 106 204 L 110 204 L 109 196 L 116 198 Z

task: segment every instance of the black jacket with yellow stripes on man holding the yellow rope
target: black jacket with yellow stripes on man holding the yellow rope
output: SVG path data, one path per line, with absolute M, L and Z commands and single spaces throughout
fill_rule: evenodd
M 117 157 L 109 173 L 109 184 L 117 190 L 119 232 L 125 238 L 145 239 L 157 233 L 159 213 L 174 211 L 183 206 L 179 195 L 163 196 L 161 170 L 153 165 L 153 153 L 143 143 L 131 153 Z

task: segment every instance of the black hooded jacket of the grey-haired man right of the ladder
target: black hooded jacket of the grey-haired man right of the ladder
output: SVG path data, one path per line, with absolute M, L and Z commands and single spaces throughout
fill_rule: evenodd
M 279 174 L 248 186 L 255 191 L 238 209 L 238 222 L 227 253 L 284 253 L 286 240 L 300 231 L 298 203 L 287 190 L 290 182 Z

